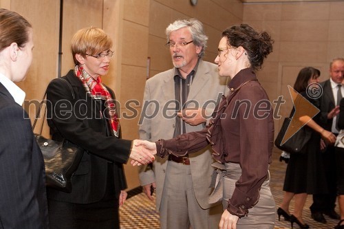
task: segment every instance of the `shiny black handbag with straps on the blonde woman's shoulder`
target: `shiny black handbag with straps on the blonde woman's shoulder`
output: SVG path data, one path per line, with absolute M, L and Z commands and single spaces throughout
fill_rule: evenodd
M 64 80 L 64 79 L 61 79 Z M 65 80 L 67 82 L 67 80 Z M 72 90 L 74 98 L 74 91 L 72 86 L 67 82 L 67 85 Z M 41 108 L 45 103 L 47 92 L 43 96 L 43 100 L 39 105 L 39 110 L 36 113 L 34 124 L 32 124 L 32 130 L 36 127 L 36 122 L 39 119 Z M 44 138 L 41 133 L 43 129 L 44 119 L 46 118 L 47 107 L 45 105 L 45 111 L 43 114 L 43 121 L 41 124 L 41 130 L 39 134 L 34 134 L 39 148 L 42 151 L 44 164 L 45 164 L 45 184 L 46 186 L 61 190 L 65 193 L 72 192 L 72 175 L 80 164 L 81 157 L 83 157 L 83 149 L 72 142 L 63 140 L 58 142 L 56 140 L 50 140 Z

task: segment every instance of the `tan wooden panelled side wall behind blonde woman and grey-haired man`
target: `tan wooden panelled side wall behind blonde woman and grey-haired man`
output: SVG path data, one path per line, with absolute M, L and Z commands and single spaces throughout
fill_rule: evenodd
M 61 1 L 57 0 L 0 0 L 1 8 L 19 12 L 34 28 L 34 60 L 26 80 L 18 83 L 26 92 L 24 107 L 31 118 L 36 107 L 29 106 L 28 102 L 41 100 L 47 84 L 58 77 L 60 6 Z M 239 0 L 199 1 L 197 6 L 191 6 L 186 0 L 63 0 L 61 74 L 74 67 L 70 52 L 74 33 L 89 26 L 103 28 L 114 40 L 115 52 L 109 74 L 103 81 L 114 89 L 120 101 L 123 138 L 138 138 L 147 75 L 172 67 L 171 56 L 164 48 L 166 26 L 175 19 L 200 19 L 209 36 L 205 59 L 213 62 L 221 30 L 230 23 L 239 23 L 242 11 Z M 149 69 L 148 57 L 151 58 Z M 136 113 L 128 109 L 129 100 L 137 102 L 131 105 Z M 48 135 L 47 129 L 43 132 Z M 129 189 L 140 186 L 136 168 L 125 165 L 125 172 Z

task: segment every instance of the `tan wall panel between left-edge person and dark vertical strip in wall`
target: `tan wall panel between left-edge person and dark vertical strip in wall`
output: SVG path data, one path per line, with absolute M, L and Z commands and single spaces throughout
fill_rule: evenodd
M 11 0 L 9 10 L 25 17 L 34 30 L 32 65 L 25 80 L 17 83 L 26 93 L 23 107 L 33 119 L 38 106 L 31 105 L 29 108 L 28 105 L 42 99 L 47 84 L 57 74 L 59 3 L 55 0 Z M 43 130 L 43 134 L 47 134 L 47 129 Z

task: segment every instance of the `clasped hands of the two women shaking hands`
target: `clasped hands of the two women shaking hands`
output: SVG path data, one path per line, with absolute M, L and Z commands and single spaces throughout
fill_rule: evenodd
M 129 156 L 131 158 L 131 165 L 149 164 L 155 160 L 154 155 L 156 155 L 155 142 L 133 140 L 133 147 Z

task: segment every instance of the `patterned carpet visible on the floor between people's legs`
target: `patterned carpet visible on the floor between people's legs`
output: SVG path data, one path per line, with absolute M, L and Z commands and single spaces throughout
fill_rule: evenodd
M 272 194 L 275 197 L 277 206 L 281 203 L 283 199 L 283 181 L 284 174 L 286 172 L 286 164 L 284 162 L 279 162 L 280 151 L 276 149 L 273 153 L 273 162 L 270 166 L 271 174 L 271 190 Z M 159 215 L 155 212 L 155 204 L 141 193 L 140 190 L 131 192 L 129 199 L 125 202 L 125 205 L 120 208 L 120 225 L 122 229 L 138 229 L 138 228 L 147 228 L 147 229 L 158 229 L 160 228 L 159 224 Z M 312 204 L 312 195 L 308 196 L 308 199 L 305 203 L 305 208 L 303 210 L 303 219 L 305 223 L 308 223 L 310 228 L 316 229 L 330 229 L 336 226 L 338 221 L 330 219 L 325 215 L 327 223 L 318 223 L 310 217 L 310 205 Z M 290 212 L 293 212 L 294 201 L 290 204 Z M 339 212 L 338 205 L 336 206 L 336 212 Z M 290 227 L 289 221 L 278 221 L 276 215 L 276 224 L 275 229 L 287 229 Z M 294 223 L 294 228 L 299 228 L 296 223 Z M 173 228 L 178 229 L 178 228 Z

